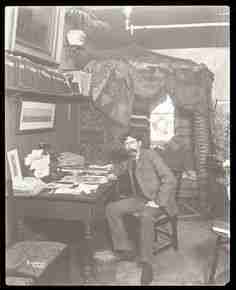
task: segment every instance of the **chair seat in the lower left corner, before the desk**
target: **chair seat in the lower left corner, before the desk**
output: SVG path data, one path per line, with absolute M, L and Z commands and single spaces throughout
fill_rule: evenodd
M 6 270 L 38 278 L 66 247 L 50 241 L 18 242 L 7 250 Z

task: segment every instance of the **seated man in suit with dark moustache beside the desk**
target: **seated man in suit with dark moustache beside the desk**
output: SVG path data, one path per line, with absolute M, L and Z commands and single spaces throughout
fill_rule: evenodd
M 113 247 L 124 259 L 134 257 L 133 246 L 128 240 L 123 217 L 141 211 L 140 262 L 142 266 L 141 284 L 149 284 L 153 279 L 152 243 L 154 240 L 153 216 L 164 207 L 174 216 L 177 214 L 175 201 L 176 178 L 158 153 L 142 148 L 142 138 L 127 137 L 125 147 L 129 153 L 127 162 L 131 192 L 127 198 L 109 203 L 106 217 L 110 226 Z M 156 207 L 148 206 L 155 202 Z

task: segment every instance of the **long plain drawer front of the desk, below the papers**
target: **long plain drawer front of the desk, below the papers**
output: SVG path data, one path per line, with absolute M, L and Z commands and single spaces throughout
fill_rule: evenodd
M 76 201 L 17 200 L 17 216 L 45 219 L 89 220 L 93 214 L 93 204 Z

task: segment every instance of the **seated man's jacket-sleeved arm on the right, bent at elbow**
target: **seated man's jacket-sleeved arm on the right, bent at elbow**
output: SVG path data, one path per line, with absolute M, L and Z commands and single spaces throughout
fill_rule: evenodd
M 161 186 L 158 193 L 160 200 L 159 203 L 160 206 L 165 207 L 168 203 L 170 195 L 175 194 L 177 180 L 172 171 L 157 152 L 150 150 L 149 157 L 157 174 L 161 178 Z

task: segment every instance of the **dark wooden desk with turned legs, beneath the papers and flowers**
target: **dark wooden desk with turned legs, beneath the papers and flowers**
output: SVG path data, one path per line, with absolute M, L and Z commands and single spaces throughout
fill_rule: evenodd
M 24 239 L 24 218 L 82 221 L 85 225 L 86 257 L 83 269 L 85 283 L 93 280 L 93 233 L 95 220 L 105 216 L 105 201 L 113 182 L 99 186 L 94 194 L 69 195 L 42 192 L 36 196 L 14 196 L 18 240 Z M 73 251 L 73 249 L 71 249 Z

